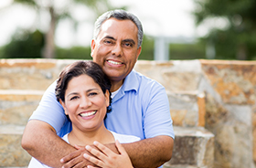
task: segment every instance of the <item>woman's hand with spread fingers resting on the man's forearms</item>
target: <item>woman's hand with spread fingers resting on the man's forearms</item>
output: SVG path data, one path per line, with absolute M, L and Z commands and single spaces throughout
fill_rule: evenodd
M 131 163 L 131 160 L 127 152 L 125 152 L 120 142 L 118 141 L 115 142 L 117 150 L 118 152 L 120 152 L 120 154 L 116 154 L 115 152 L 112 152 L 109 148 L 107 148 L 100 142 L 93 142 L 93 144 L 101 152 L 96 149 L 93 149 L 90 145 L 87 145 L 85 147 L 88 152 L 91 152 L 91 154 L 95 156 L 95 157 L 92 157 L 86 153 L 83 155 L 85 159 L 87 159 L 91 163 L 94 163 L 102 168 L 121 168 L 121 167 L 133 168 L 133 164 Z M 94 166 L 91 166 L 91 165 L 88 165 L 87 167 L 95 168 Z

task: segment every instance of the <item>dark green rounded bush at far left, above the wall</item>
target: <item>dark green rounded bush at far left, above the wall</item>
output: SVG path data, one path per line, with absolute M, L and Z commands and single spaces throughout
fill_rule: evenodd
M 40 31 L 16 32 L 11 42 L 2 47 L 1 58 L 41 58 L 43 46 L 44 36 Z

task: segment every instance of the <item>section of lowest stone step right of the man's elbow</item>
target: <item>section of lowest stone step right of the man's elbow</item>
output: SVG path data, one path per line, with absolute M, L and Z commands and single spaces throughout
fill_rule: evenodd
M 209 168 L 214 163 L 214 135 L 203 127 L 174 127 L 172 159 L 165 168 Z

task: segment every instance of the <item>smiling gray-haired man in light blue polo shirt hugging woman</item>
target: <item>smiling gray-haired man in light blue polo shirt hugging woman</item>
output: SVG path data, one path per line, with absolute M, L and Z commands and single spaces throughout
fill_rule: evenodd
M 125 143 L 134 167 L 158 167 L 171 159 L 174 131 L 165 88 L 133 70 L 141 50 L 143 28 L 133 14 L 109 11 L 95 22 L 91 57 L 112 82 L 112 112 L 105 120 L 111 131 L 140 137 Z M 85 167 L 83 153 L 61 140 L 71 130 L 55 98 L 56 83 L 45 92 L 24 132 L 22 146 L 52 167 Z M 59 136 L 60 137 L 59 137 Z M 116 152 L 114 144 L 106 144 Z M 61 159 L 62 158 L 62 159 Z M 61 159 L 61 162 L 59 160 Z

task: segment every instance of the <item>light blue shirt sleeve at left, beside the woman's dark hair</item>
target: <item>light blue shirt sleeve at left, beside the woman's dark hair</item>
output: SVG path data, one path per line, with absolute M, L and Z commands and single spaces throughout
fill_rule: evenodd
M 61 104 L 56 99 L 56 84 L 56 81 L 53 82 L 45 91 L 39 105 L 37 106 L 37 110 L 33 112 L 29 121 L 45 121 L 51 125 L 56 132 L 59 132 L 65 121 L 67 121 L 67 117 Z

